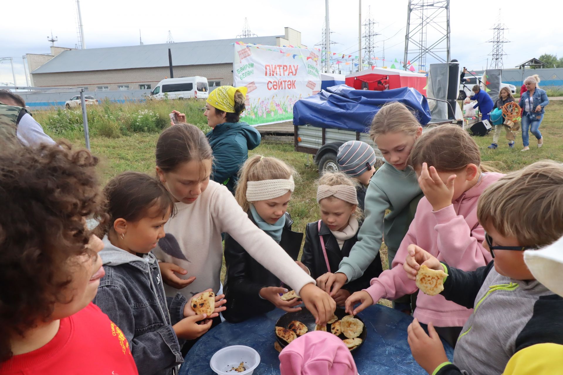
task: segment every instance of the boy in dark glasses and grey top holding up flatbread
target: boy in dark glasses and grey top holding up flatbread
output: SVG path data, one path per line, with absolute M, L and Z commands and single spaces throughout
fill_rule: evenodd
M 409 246 L 404 269 L 410 279 L 419 264 L 443 269 L 448 277 L 441 296 L 473 308 L 453 364 L 432 326 L 430 337 L 416 319 L 409 326 L 413 357 L 429 374 L 561 373 L 563 299 L 534 279 L 523 252 L 563 235 L 562 186 L 563 165 L 555 161 L 535 162 L 489 186 L 479 199 L 477 217 L 494 259 L 475 271 L 453 268 Z

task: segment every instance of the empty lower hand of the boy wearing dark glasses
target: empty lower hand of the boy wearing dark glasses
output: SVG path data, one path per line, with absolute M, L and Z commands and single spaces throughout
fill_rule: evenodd
M 427 373 L 433 373 L 436 367 L 449 361 L 444 345 L 432 323 L 428 324 L 430 336 L 426 335 L 417 318 L 409 324 L 407 332 L 409 333 L 407 341 L 413 358 Z

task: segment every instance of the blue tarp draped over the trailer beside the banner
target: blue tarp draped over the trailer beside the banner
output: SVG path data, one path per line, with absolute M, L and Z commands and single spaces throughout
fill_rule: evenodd
M 367 133 L 379 107 L 393 101 L 413 109 L 422 125 L 430 122 L 426 97 L 413 88 L 369 91 L 338 85 L 298 100 L 293 105 L 293 124 Z

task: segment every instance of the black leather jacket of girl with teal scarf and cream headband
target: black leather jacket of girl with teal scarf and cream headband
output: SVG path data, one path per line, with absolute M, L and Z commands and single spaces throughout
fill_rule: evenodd
M 252 214 L 248 216 L 254 223 Z M 285 227 L 282 229 L 280 246 L 293 260 L 297 260 L 303 233 L 293 232 L 292 224 L 291 216 L 285 213 Z M 274 310 L 275 306 L 262 299 L 258 293 L 263 287 L 281 286 L 282 282 L 254 260 L 229 234 L 225 236 L 225 263 L 227 274 L 224 290 L 227 309 L 223 311 L 223 317 L 226 320 L 238 323 L 253 315 Z

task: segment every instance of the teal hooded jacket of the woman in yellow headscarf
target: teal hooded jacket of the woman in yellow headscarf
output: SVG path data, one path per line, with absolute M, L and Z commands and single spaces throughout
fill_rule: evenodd
M 211 179 L 234 194 L 239 169 L 248 159 L 248 150 L 260 144 L 260 133 L 247 123 L 223 123 L 205 136 L 213 151 Z

